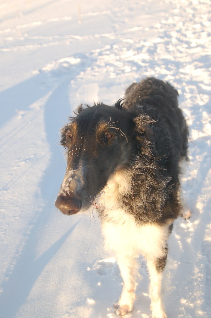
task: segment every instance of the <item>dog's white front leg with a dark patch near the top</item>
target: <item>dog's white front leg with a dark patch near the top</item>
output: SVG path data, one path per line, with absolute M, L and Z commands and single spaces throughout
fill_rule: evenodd
M 166 265 L 168 249 L 161 258 L 147 259 L 147 266 L 150 275 L 149 292 L 151 296 L 151 310 L 153 318 L 167 318 L 162 304 L 162 280 L 163 270 Z

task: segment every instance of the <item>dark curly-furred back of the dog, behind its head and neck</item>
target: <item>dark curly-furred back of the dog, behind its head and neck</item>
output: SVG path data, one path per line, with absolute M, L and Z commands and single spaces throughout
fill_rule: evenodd
M 130 85 L 125 97 L 126 108 L 141 105 L 143 111 L 157 121 L 151 128 L 155 134 L 155 148 L 161 155 L 168 155 L 170 150 L 175 149 L 174 157 L 177 160 L 187 158 L 188 129 L 178 107 L 178 92 L 173 86 L 160 79 L 147 78 Z

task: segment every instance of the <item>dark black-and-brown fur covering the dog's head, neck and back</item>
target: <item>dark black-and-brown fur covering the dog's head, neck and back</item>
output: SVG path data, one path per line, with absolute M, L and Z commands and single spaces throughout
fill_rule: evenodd
M 170 84 L 147 78 L 129 86 L 126 101 L 114 107 L 79 106 L 76 117 L 62 129 L 68 163 L 56 206 L 65 214 L 89 208 L 112 173 L 124 168 L 131 187 L 119 196 L 118 207 L 129 208 L 141 225 L 177 218 L 178 164 L 182 157 L 187 159 L 188 144 L 177 97 Z

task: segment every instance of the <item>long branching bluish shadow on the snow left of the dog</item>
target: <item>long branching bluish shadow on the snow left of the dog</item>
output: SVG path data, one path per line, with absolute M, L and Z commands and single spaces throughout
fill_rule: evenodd
M 83 59 L 83 57 L 82 57 Z M 36 246 L 38 233 L 48 222 L 52 211 L 56 213 L 54 198 L 56 199 L 60 183 L 65 172 L 63 152 L 59 148 L 59 130 L 71 115 L 69 105 L 69 85 L 72 79 L 88 67 L 90 61 L 69 66 L 69 73 L 63 68 L 56 70 L 56 75 L 51 71 L 41 72 L 16 86 L 0 93 L 3 112 L 0 117 L 0 126 L 16 114 L 17 110 L 28 110 L 30 105 L 50 93 L 44 105 L 44 121 L 47 142 L 49 143 L 51 158 L 48 168 L 45 170 L 40 188 L 44 200 L 44 207 L 36 217 L 36 221 L 30 233 L 24 237 L 22 252 L 17 251 L 12 264 L 8 266 L 5 280 L 1 284 L 0 315 L 1 317 L 15 317 L 20 307 L 27 301 L 31 288 L 42 273 L 45 266 L 53 258 L 56 252 L 68 239 L 74 226 L 61 235 L 51 247 L 36 259 Z M 51 77 L 57 77 L 51 81 Z M 53 173 L 52 173 L 53 172 Z M 53 199 L 52 199 L 53 198 Z M 35 215 L 36 215 L 35 211 Z M 32 222 L 33 223 L 33 222 Z M 30 225 L 29 225 L 30 227 Z M 26 231 L 27 232 L 27 231 Z M 14 265 L 15 264 L 15 265 Z

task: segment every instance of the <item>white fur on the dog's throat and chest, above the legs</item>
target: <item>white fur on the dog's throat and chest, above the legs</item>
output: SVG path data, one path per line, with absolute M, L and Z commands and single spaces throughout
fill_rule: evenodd
M 128 171 L 119 170 L 113 174 L 99 197 L 104 207 L 102 233 L 105 247 L 115 254 L 138 257 L 160 258 L 164 255 L 168 240 L 169 225 L 138 225 L 129 211 L 120 208 L 119 197 L 127 194 L 131 187 L 131 176 Z

